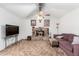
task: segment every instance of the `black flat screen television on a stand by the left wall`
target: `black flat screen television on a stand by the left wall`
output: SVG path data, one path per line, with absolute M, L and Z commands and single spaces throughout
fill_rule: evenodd
M 6 36 L 19 34 L 19 26 L 6 25 Z

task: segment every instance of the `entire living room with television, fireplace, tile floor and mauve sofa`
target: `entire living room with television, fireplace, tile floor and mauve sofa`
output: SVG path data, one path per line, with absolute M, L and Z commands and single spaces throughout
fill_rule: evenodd
M 0 55 L 79 56 L 78 19 L 79 3 L 0 3 Z

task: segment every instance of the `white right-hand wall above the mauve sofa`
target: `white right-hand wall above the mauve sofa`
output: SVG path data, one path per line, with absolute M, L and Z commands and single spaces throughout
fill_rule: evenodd
M 79 35 L 79 8 L 60 19 L 59 31 L 60 33 L 74 33 Z

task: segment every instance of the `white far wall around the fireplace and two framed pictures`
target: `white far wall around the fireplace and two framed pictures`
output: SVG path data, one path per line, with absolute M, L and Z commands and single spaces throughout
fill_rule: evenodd
M 29 18 L 26 20 L 26 27 L 27 27 L 27 35 L 32 35 L 32 27 L 31 27 L 31 20 L 36 19 L 35 15 L 32 18 Z M 50 20 L 50 26 L 49 26 L 49 33 L 51 33 L 51 36 L 53 34 L 56 34 L 56 23 L 58 22 L 58 19 L 56 17 L 48 16 L 45 19 Z M 44 27 L 44 19 L 41 21 L 41 23 L 36 19 L 36 26 L 35 27 Z

